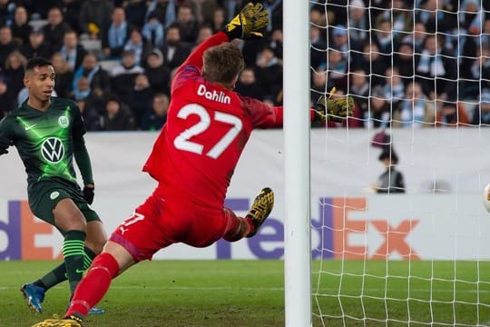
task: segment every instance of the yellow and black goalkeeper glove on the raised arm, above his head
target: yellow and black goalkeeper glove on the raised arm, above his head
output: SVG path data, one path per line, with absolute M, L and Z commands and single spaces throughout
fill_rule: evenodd
M 269 13 L 262 10 L 262 4 L 248 3 L 241 9 L 230 23 L 225 25 L 224 33 L 230 40 L 240 38 L 242 40 L 260 39 L 263 35 L 260 28 L 269 24 Z

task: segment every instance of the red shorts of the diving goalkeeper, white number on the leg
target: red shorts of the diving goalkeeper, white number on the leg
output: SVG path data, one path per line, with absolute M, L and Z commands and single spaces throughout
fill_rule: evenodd
M 110 240 L 122 245 L 135 261 L 151 260 L 157 251 L 172 243 L 206 247 L 239 219 L 228 208 L 208 208 L 163 197 L 155 191 L 129 218 L 115 228 Z

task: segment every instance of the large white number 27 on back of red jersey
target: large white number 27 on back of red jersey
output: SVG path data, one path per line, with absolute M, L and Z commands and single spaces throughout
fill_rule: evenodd
M 177 117 L 181 119 L 186 119 L 190 114 L 197 114 L 200 118 L 197 124 L 193 124 L 190 128 L 179 134 L 175 140 L 173 140 L 173 145 L 177 149 L 189 151 L 194 154 L 202 154 L 202 144 L 190 141 L 192 136 L 198 135 L 206 131 L 211 126 L 211 116 L 208 111 L 200 104 L 186 104 L 184 105 Z M 240 134 L 242 123 L 239 117 L 233 114 L 225 114 L 220 112 L 215 112 L 213 119 L 220 123 L 230 124 L 230 130 L 220 138 L 218 143 L 214 144 L 211 150 L 206 154 L 213 159 L 216 159 L 226 150 L 228 145 L 233 142 L 235 137 Z

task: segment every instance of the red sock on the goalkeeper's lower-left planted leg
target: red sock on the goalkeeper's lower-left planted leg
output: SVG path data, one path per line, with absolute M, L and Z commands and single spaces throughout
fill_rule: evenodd
M 103 299 L 113 277 L 119 272 L 119 263 L 111 253 L 101 253 L 92 263 L 87 275 L 78 284 L 72 303 L 64 315 L 85 317 L 89 310 Z

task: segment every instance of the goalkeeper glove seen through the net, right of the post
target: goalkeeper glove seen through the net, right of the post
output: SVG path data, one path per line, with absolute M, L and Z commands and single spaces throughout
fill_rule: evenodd
M 352 115 L 354 110 L 354 99 L 351 96 L 332 99 L 335 87 L 330 90 L 328 97 L 322 95 L 314 106 L 315 120 L 342 122 L 343 119 Z

